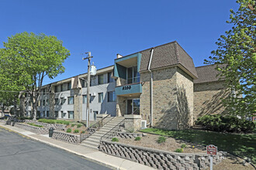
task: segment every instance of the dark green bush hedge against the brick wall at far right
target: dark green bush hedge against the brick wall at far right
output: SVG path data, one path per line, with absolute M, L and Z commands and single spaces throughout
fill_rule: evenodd
M 201 125 L 208 131 L 250 132 L 255 128 L 252 121 L 234 116 L 221 116 L 220 114 L 199 117 L 195 124 Z

